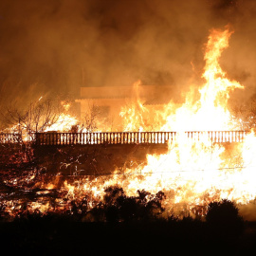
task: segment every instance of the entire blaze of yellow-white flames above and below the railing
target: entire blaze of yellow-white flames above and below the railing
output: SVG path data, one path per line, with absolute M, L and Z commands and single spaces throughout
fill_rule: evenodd
M 205 83 L 199 86 L 199 100 L 188 92 L 183 105 L 177 106 L 170 101 L 162 110 L 150 111 L 137 95 L 140 82 L 134 84 L 134 101 L 124 106 L 120 113 L 124 131 L 146 131 L 152 124 L 158 131 L 176 131 L 177 136 L 169 142 L 167 154 L 147 155 L 146 165 L 127 168 L 122 175 L 117 172 L 111 178 L 101 176 L 91 180 L 84 177 L 76 183 L 65 181 L 62 190 L 66 192 L 66 198 L 90 194 L 93 206 L 92 202 L 102 198 L 104 188 L 118 184 L 130 196 L 135 195 L 137 190 L 165 192 L 168 213 L 178 213 L 184 204 L 191 210 L 193 206 L 206 205 L 215 199 L 227 198 L 241 204 L 253 200 L 256 196 L 253 184 L 256 137 L 253 132 L 243 143 L 235 144 L 232 150 L 228 150 L 227 145 L 213 144 L 210 137 L 198 140 L 184 133 L 230 131 L 238 127 L 227 103 L 229 92 L 244 86 L 230 81 L 219 64 L 232 33 L 229 27 L 210 30 L 202 75 Z M 61 115 L 60 122 L 58 120 L 46 131 L 70 129 L 70 125 L 76 123 L 77 119 Z M 66 124 L 69 126 L 66 127 Z

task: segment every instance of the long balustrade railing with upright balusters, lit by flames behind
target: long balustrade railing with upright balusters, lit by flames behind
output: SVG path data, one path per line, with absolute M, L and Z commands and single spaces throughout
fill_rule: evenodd
M 210 139 L 212 142 L 242 142 L 246 131 L 207 132 L 101 132 L 101 133 L 36 133 L 36 145 L 75 144 L 160 144 L 174 141 L 178 136 L 194 140 Z

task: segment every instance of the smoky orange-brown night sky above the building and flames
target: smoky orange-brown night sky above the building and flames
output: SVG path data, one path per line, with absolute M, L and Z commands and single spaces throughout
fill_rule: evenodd
M 254 0 L 1 0 L 1 102 L 138 79 L 182 90 L 200 79 L 210 28 L 228 23 L 222 67 L 251 96 L 255 14 Z

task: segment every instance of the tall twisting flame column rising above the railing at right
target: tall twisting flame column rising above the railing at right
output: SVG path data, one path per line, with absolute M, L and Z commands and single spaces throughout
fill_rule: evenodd
M 193 103 L 192 93 L 188 93 L 185 104 L 175 109 L 174 115 L 167 117 L 162 130 L 176 131 L 226 131 L 236 129 L 227 108 L 229 91 L 244 88 L 239 82 L 229 81 L 219 65 L 222 51 L 229 46 L 232 31 L 212 29 L 205 52 L 206 81 L 199 89 L 200 100 Z M 172 105 L 171 105 L 172 107 Z

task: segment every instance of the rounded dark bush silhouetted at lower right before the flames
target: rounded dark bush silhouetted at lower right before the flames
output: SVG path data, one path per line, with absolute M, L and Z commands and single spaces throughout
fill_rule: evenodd
M 238 208 L 227 199 L 209 204 L 206 221 L 210 229 L 223 236 L 238 236 L 244 230 L 244 220 L 238 214 Z

